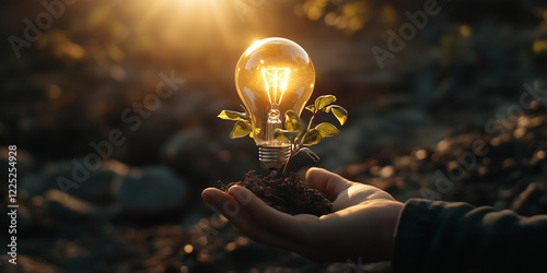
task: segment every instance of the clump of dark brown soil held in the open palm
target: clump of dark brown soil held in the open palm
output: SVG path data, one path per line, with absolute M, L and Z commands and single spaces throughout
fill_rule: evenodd
M 327 195 L 301 181 L 300 175 L 295 173 L 278 176 L 277 171 L 272 170 L 268 176 L 259 176 L 249 170 L 242 181 L 231 182 L 228 186 L 221 181 L 219 183 L 225 191 L 234 185 L 245 187 L 266 204 L 291 215 L 321 216 L 333 212 L 333 202 Z

